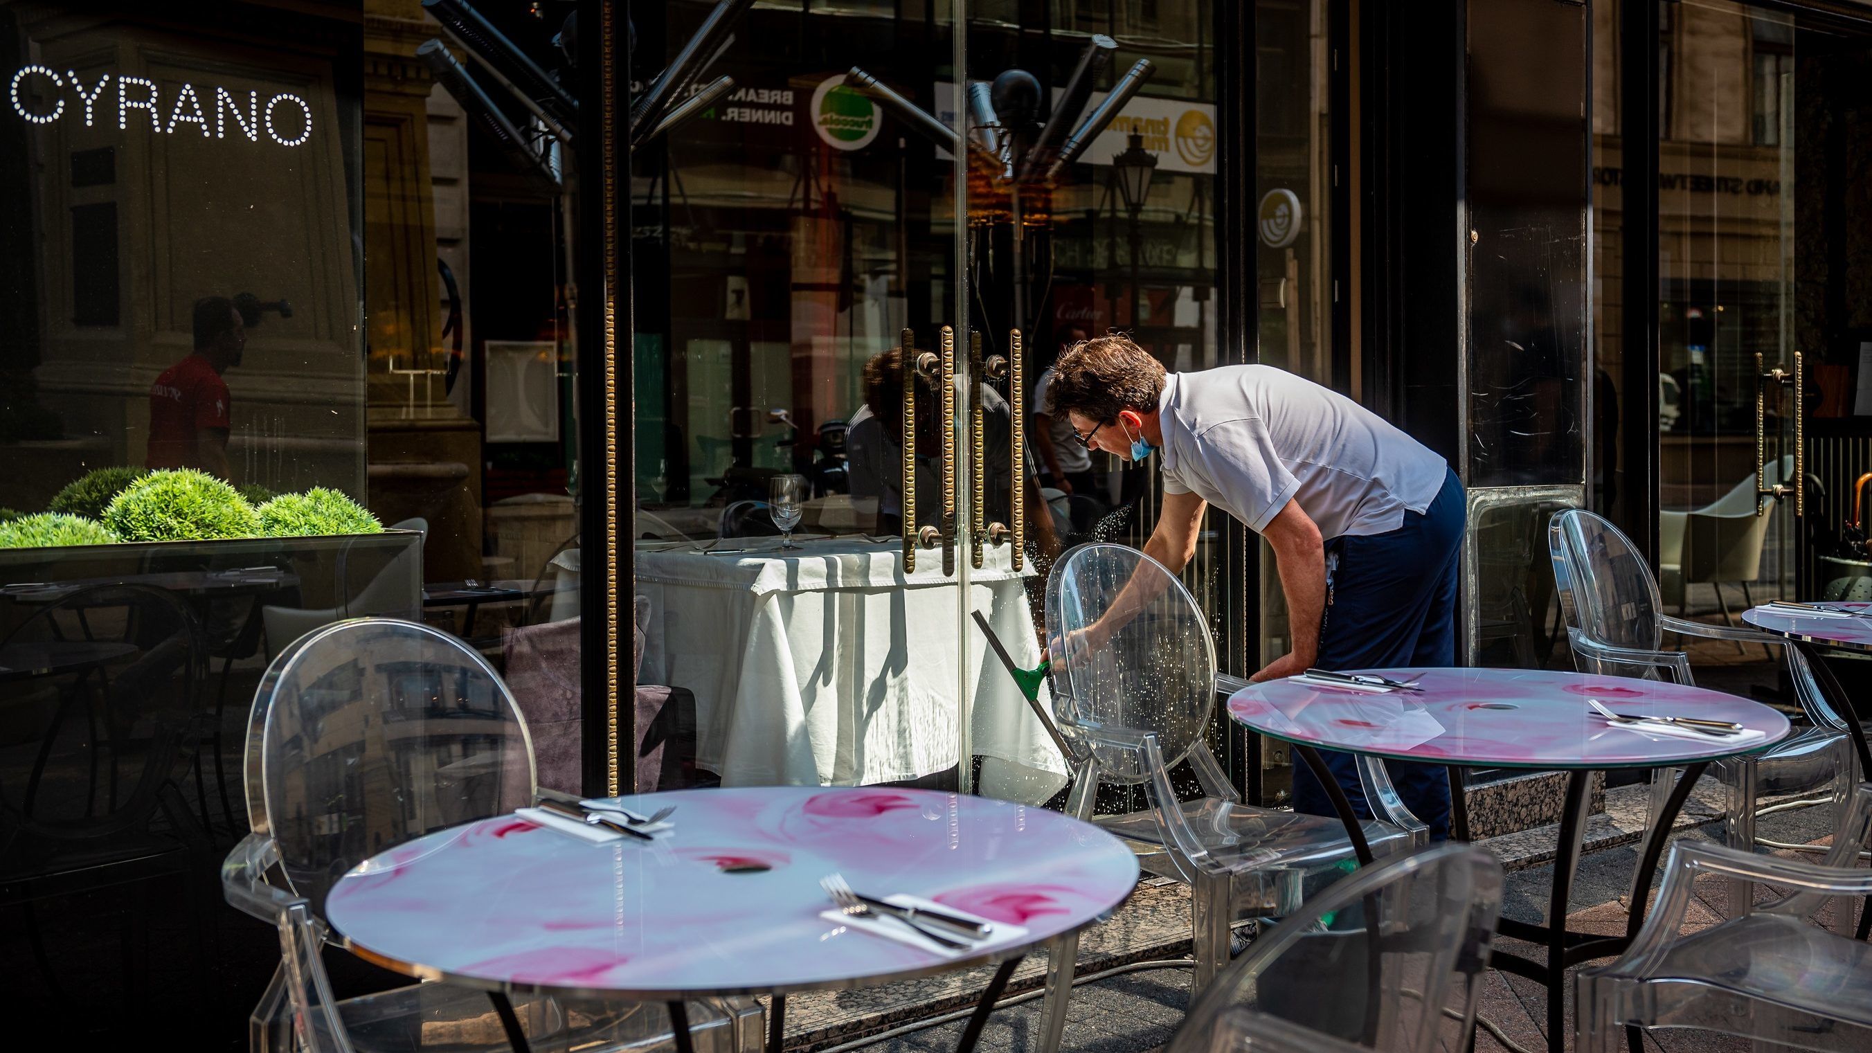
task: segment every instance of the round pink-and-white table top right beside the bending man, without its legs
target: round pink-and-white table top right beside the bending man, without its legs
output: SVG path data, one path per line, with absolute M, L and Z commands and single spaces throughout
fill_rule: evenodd
M 1350 673 L 1350 671 L 1348 671 Z M 1262 734 L 1402 761 L 1490 768 L 1657 768 L 1752 753 L 1790 733 L 1769 706 L 1681 684 L 1537 669 L 1359 669 L 1423 691 L 1363 693 L 1290 680 L 1250 684 L 1228 714 Z M 1741 723 L 1728 738 L 1612 725 L 1587 699 L 1631 716 Z

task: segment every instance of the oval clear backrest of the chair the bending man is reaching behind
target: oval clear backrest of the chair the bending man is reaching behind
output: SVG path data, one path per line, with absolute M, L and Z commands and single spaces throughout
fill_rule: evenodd
M 1080 643 L 1093 624 L 1116 626 L 1103 646 Z M 1202 742 L 1215 708 L 1215 641 L 1202 607 L 1161 562 L 1125 545 L 1067 551 L 1046 579 L 1046 641 L 1067 736 L 1078 727 L 1155 734 L 1172 766 Z M 1136 751 L 1093 746 L 1093 757 L 1110 779 L 1149 778 Z

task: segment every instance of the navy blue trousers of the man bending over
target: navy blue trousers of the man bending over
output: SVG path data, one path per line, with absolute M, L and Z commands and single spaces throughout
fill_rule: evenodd
M 1462 480 L 1451 470 L 1423 515 L 1404 513 L 1387 534 L 1346 536 L 1327 543 L 1337 553 L 1329 603 L 1320 620 L 1320 669 L 1443 667 L 1456 663 L 1456 570 L 1468 515 Z M 1372 809 L 1359 787 L 1350 753 L 1322 749 L 1325 766 L 1365 819 Z M 1443 764 L 1385 761 L 1398 796 L 1430 826 L 1436 841 L 1449 838 L 1449 772 Z M 1325 787 L 1299 759 L 1294 761 L 1294 809 L 1337 815 Z

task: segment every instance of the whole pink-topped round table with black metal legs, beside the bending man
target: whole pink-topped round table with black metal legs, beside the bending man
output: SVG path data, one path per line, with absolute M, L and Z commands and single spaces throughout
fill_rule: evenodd
M 1499 922 L 1501 935 L 1544 944 L 1546 961 L 1499 946 L 1494 950 L 1498 969 L 1546 984 L 1546 1038 L 1552 1053 L 1561 1053 L 1569 1032 L 1563 1016 L 1567 967 L 1617 956 L 1631 946 L 1644 920 L 1645 890 L 1651 888 L 1657 860 L 1670 839 L 1672 821 L 1683 809 L 1704 768 L 1722 757 L 1765 749 L 1792 731 L 1788 718 L 1762 703 L 1685 684 L 1539 669 L 1359 669 L 1357 673 L 1415 682 L 1421 690 L 1376 693 L 1294 678 L 1267 680 L 1236 691 L 1228 699 L 1228 716 L 1269 738 L 1294 744 L 1294 751 L 1320 776 L 1333 796 L 1363 862 L 1370 862 L 1370 849 L 1365 847 L 1359 821 L 1338 781 L 1320 761 L 1318 749 L 1451 764 L 1453 791 L 1460 791 L 1455 766 L 1569 772 L 1546 924 L 1529 926 L 1511 918 Z M 1732 721 L 1743 731 L 1735 736 L 1717 736 L 1651 723 L 1614 725 L 1591 708 L 1593 701 L 1617 714 Z M 1591 772 L 1666 766 L 1681 766 L 1683 778 L 1653 819 L 1651 834 L 1640 853 L 1632 877 L 1638 896 L 1625 935 L 1593 937 L 1567 931 L 1567 899 L 1591 806 L 1587 793 Z M 1451 796 L 1456 806 L 1456 836 L 1468 838 L 1462 794 Z

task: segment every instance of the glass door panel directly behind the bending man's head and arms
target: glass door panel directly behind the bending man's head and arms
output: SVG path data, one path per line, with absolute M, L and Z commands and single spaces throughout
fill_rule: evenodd
M 1073 438 L 1046 403 L 1048 367 L 1108 332 L 1172 371 L 1224 363 L 1213 296 L 1215 24 L 1207 0 L 970 0 L 966 77 L 940 86 L 968 129 L 960 315 L 972 352 L 960 425 L 979 461 L 970 480 L 981 483 L 966 530 L 970 613 L 1016 665 L 1039 660 L 1028 626 L 1045 620 L 1054 558 L 1093 540 L 1142 545 L 1161 493 L 1153 463 L 1123 468 Z M 1217 615 L 1221 652 L 1226 526 L 1217 519 L 1183 577 Z M 975 791 L 1058 794 L 1065 772 L 1054 744 L 1007 734 L 1033 723 L 1018 684 L 979 630 L 966 645 L 981 667 L 966 719 Z

